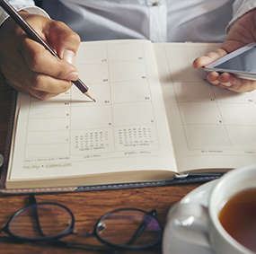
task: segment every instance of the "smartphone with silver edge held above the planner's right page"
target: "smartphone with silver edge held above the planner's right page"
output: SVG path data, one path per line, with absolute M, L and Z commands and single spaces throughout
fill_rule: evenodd
M 239 48 L 204 68 L 207 73 L 230 73 L 238 78 L 256 80 L 256 43 Z

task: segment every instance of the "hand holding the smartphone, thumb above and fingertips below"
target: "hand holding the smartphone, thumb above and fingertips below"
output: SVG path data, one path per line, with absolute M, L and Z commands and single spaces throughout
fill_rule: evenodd
M 203 57 L 195 59 L 193 66 L 195 68 L 207 66 L 211 62 L 216 61 L 216 59 L 224 57 L 226 54 L 254 42 L 256 38 L 255 22 L 255 9 L 249 13 L 245 13 L 234 23 L 221 47 Z M 256 81 L 235 78 L 234 75 L 228 73 L 218 74 L 212 72 L 207 75 L 207 80 L 217 87 L 227 88 L 234 92 L 251 92 L 256 89 Z

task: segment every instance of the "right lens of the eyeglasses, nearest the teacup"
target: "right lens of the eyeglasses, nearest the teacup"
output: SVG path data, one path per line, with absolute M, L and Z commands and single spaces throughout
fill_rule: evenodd
M 162 236 L 154 216 L 138 210 L 120 210 L 103 216 L 95 231 L 103 241 L 125 248 L 153 246 Z

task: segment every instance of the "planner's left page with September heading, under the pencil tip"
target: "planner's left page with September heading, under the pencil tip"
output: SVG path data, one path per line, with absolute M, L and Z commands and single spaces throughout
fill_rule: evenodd
M 176 171 L 152 43 L 84 42 L 75 66 L 96 102 L 75 85 L 47 101 L 20 92 L 8 181 Z

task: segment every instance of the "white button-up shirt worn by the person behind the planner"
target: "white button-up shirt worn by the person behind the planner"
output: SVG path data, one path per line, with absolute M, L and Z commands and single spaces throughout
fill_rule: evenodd
M 47 15 L 31 0 L 10 0 L 17 10 Z M 256 7 L 254 0 L 45 0 L 52 19 L 82 40 L 223 41 L 225 28 Z M 0 11 L 0 21 L 6 14 Z

